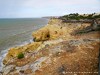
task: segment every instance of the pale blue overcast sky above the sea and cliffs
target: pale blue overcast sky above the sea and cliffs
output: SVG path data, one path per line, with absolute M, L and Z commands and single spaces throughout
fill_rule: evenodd
M 0 0 L 0 18 L 100 13 L 100 0 Z

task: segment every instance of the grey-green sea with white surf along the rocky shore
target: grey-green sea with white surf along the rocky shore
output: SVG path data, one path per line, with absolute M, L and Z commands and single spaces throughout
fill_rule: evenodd
M 32 32 L 45 26 L 48 21 L 47 18 L 0 19 L 0 70 L 9 48 L 33 42 Z

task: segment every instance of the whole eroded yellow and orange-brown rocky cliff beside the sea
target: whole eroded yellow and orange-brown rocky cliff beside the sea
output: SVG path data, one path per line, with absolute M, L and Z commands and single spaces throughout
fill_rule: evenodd
M 4 58 L 3 75 L 97 75 L 100 31 L 81 32 L 91 23 L 51 19 L 32 33 L 33 43 L 11 48 Z M 24 58 L 18 59 L 19 53 Z

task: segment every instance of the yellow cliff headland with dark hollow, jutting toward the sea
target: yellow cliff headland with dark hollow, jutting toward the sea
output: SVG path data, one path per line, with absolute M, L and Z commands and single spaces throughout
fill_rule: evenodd
M 33 32 L 32 36 L 36 42 L 59 38 L 71 39 L 73 31 L 84 29 L 90 25 L 91 23 L 76 23 L 75 25 L 74 23 L 63 23 L 60 19 L 51 19 L 47 26 Z

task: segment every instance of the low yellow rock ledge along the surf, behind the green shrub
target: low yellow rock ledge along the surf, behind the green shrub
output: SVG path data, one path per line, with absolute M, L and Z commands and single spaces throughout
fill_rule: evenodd
M 9 61 L 11 61 L 10 59 L 17 57 L 19 53 L 30 52 L 30 51 L 36 50 L 41 44 L 42 42 L 33 42 L 25 46 L 10 48 L 6 57 L 3 60 L 3 64 L 8 64 Z

